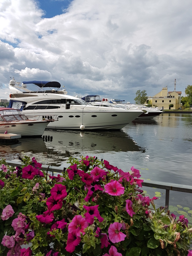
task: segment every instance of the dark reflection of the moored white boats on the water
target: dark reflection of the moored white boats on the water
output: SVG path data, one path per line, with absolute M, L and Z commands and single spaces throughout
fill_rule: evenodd
M 70 156 L 78 158 L 80 156 L 98 156 L 112 152 L 145 152 L 144 148 L 138 146 L 123 131 L 79 132 L 46 130 L 42 138 L 21 138 L 19 141 L 21 143 L 19 145 L 0 145 L 1 157 L 13 160 L 18 159 L 19 156 L 35 156 L 43 164 L 60 166 L 63 162 L 67 162 Z

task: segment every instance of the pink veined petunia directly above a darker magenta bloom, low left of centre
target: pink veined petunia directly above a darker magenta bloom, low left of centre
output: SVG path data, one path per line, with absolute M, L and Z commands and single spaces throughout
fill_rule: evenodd
M 68 226 L 69 233 L 76 232 L 76 236 L 80 236 L 80 232 L 85 234 L 84 229 L 89 226 L 89 223 L 81 215 L 76 215 Z

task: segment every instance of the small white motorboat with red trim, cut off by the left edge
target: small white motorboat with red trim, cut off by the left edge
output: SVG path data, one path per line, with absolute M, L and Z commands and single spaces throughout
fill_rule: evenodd
M 14 133 L 23 136 L 42 136 L 46 126 L 53 119 L 31 120 L 20 110 L 0 107 L 0 133 Z

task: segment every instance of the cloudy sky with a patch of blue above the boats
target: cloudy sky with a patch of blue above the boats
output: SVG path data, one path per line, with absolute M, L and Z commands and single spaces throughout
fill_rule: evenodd
M 9 81 L 134 103 L 192 84 L 191 0 L 0 0 L 0 99 Z

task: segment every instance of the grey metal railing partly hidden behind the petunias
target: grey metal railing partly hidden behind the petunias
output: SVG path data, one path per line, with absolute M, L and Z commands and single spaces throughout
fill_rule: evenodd
M 21 165 L 23 165 L 22 162 L 20 162 L 20 161 L 6 160 L 6 162 L 10 166 L 21 166 Z M 51 164 L 50 165 L 42 165 L 41 170 L 52 172 L 52 176 L 54 175 L 54 173 L 62 173 L 63 172 L 63 169 L 61 169 L 58 166 L 52 166 Z M 179 191 L 179 192 L 185 192 L 185 193 L 192 193 L 192 186 L 176 184 L 176 183 L 169 183 L 169 182 L 161 182 L 161 181 L 155 181 L 155 180 L 144 180 L 143 183 L 142 183 L 142 186 L 150 187 L 150 188 L 164 189 L 166 191 L 165 192 L 165 206 L 167 205 L 168 208 L 169 208 L 170 191 Z

